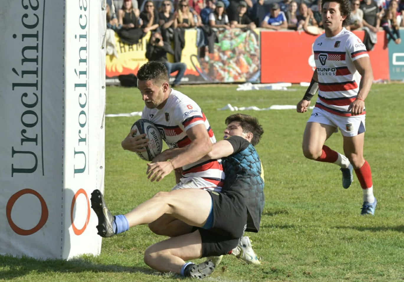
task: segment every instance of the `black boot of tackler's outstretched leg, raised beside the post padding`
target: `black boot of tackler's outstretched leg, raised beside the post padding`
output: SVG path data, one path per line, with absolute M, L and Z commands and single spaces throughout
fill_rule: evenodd
M 114 236 L 114 228 L 112 227 L 114 225 L 114 217 L 109 212 L 107 205 L 105 205 L 104 197 L 98 189 L 91 193 L 91 208 L 98 217 L 97 234 L 101 237 Z

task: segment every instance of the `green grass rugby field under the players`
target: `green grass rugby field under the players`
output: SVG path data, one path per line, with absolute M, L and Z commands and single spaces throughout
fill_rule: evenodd
M 217 139 L 223 137 L 225 118 L 234 113 L 218 110 L 227 103 L 259 108 L 296 105 L 305 91 L 299 86 L 287 91 L 236 88 L 210 85 L 183 86 L 180 90 L 202 107 Z M 372 168 L 379 202 L 374 217 L 360 216 L 362 192 L 356 177 L 349 189 L 343 189 L 339 167 L 304 158 L 301 139 L 309 113 L 298 114 L 292 109 L 243 111 L 259 118 L 265 130 L 257 145 L 265 169 L 261 230 L 246 234 L 262 257 L 262 265 L 246 265 L 227 256 L 205 280 L 404 280 L 403 89 L 403 84 L 375 84 L 366 99 L 364 155 Z M 107 114 L 142 108 L 136 88 L 107 87 Z M 126 213 L 174 185 L 173 176 L 150 183 L 145 175 L 146 162 L 122 150 L 120 142 L 138 118 L 105 119 L 105 200 L 114 214 Z M 340 133 L 326 145 L 342 152 Z M 0 256 L 0 280 L 181 281 L 180 276 L 160 274 L 143 263 L 145 248 L 162 239 L 147 226 L 139 226 L 103 239 L 98 257 L 38 261 Z

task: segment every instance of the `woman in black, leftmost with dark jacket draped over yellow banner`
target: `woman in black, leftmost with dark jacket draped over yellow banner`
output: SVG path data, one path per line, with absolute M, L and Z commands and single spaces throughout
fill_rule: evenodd
M 136 44 L 145 36 L 140 28 L 143 21 L 139 17 L 139 9 L 133 8 L 132 0 L 124 0 L 118 12 L 118 22 L 121 29 L 118 31 L 120 40 L 126 44 Z

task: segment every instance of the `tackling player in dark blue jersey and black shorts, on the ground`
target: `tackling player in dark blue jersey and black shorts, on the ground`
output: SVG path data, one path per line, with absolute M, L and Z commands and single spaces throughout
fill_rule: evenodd
M 264 206 L 261 161 L 254 147 L 263 130 L 255 118 L 246 116 L 253 122 L 251 126 L 239 122 L 240 116 L 246 115 L 238 114 L 226 119 L 227 138 L 213 144 L 211 152 L 203 158 L 227 157 L 223 166 L 229 177 L 221 192 L 204 189 L 159 192 L 126 215 L 113 217 L 101 192 L 95 190 L 91 194 L 91 206 L 99 220 L 98 234 L 111 237 L 130 227 L 151 223 L 163 214 L 171 215 L 194 226 L 194 231 L 150 246 L 145 251 L 145 263 L 158 271 L 172 271 L 186 277 L 203 278 L 210 275 L 215 269 L 212 261 L 195 265 L 185 263 L 185 260 L 229 253 L 238 245 L 245 230 L 259 230 Z M 173 166 L 164 167 L 162 171 L 156 162 L 149 166 L 148 173 L 149 177 L 159 180 L 172 170 Z

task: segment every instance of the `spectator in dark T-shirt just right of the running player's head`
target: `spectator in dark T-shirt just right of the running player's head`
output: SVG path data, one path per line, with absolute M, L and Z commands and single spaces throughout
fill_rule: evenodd
M 376 33 L 380 27 L 379 8 L 374 0 L 363 0 L 360 9 L 363 11 L 362 29 L 365 31 L 363 44 L 366 46 L 366 51 L 370 51 L 377 42 Z

